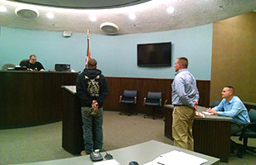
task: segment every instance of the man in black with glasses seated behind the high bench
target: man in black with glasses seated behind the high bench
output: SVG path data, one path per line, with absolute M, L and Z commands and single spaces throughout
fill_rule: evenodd
M 27 61 L 22 61 L 21 66 L 25 66 L 27 67 L 30 71 L 44 71 L 45 68 L 42 66 L 42 64 L 40 62 L 36 61 L 36 55 L 35 54 L 31 54 L 29 56 L 29 60 Z

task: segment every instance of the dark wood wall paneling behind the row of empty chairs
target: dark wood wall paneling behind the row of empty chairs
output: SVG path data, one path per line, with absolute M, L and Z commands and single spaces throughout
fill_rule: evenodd
M 104 101 L 104 110 L 123 111 L 126 107 L 119 104 L 119 96 L 123 95 L 123 90 L 137 90 L 138 104 L 133 106 L 134 111 L 146 113 L 152 111 L 151 107 L 143 106 L 143 98 L 147 97 L 147 92 L 162 92 L 162 103 L 167 99 L 171 103 L 171 82 L 173 79 L 162 78 L 113 78 L 107 77 L 109 83 L 109 97 Z M 200 106 L 209 106 L 210 81 L 197 80 L 197 87 L 200 92 Z

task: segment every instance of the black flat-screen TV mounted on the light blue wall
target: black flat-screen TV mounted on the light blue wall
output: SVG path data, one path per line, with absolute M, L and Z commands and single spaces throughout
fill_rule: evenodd
M 138 66 L 171 66 L 171 42 L 137 45 Z

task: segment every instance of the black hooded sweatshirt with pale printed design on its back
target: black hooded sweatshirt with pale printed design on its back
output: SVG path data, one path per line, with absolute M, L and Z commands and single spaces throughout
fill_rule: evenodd
M 91 107 L 92 101 L 98 101 L 99 108 L 108 97 L 108 82 L 99 69 L 85 68 L 76 79 L 76 95 L 81 106 Z

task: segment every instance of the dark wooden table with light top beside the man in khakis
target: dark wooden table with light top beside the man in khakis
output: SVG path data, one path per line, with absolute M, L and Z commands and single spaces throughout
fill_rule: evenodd
M 172 105 L 165 105 L 165 136 L 172 139 Z M 198 106 L 197 111 L 206 111 L 203 106 Z M 193 124 L 194 151 L 204 153 L 216 158 L 220 162 L 229 162 L 230 149 L 230 124 L 232 118 L 219 115 L 205 115 L 196 117 Z

